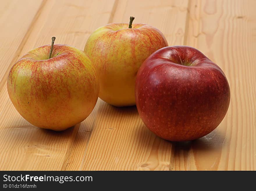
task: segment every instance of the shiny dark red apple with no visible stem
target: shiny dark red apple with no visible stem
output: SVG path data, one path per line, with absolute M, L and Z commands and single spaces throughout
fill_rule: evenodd
M 230 103 L 225 74 L 199 50 L 188 46 L 161 48 L 138 71 L 138 113 L 157 136 L 191 141 L 213 131 Z

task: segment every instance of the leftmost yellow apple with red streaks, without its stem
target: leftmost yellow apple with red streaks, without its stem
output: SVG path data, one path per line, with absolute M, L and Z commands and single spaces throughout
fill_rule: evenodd
M 99 82 L 82 50 L 57 44 L 35 48 L 11 68 L 7 90 L 13 105 L 31 124 L 55 131 L 80 123 L 93 110 Z

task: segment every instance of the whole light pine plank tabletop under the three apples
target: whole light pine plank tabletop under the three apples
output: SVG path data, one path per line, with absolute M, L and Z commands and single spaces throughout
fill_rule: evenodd
M 0 170 L 256 170 L 256 1 L 0 1 Z M 83 50 L 112 22 L 159 28 L 169 46 L 201 50 L 225 72 L 226 117 L 211 134 L 173 143 L 156 137 L 136 107 L 98 100 L 80 124 L 54 132 L 23 119 L 12 105 L 8 72 L 29 50 L 65 43 Z

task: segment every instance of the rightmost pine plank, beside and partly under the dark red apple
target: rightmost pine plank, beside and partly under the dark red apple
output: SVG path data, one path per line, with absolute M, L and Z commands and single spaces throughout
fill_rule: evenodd
M 174 170 L 256 170 L 255 1 L 191 1 L 185 44 L 224 71 L 231 102 L 211 134 L 175 145 Z

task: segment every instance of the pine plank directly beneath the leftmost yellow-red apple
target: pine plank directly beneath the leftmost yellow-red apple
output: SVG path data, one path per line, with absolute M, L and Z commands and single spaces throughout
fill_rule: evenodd
M 23 4 L 19 2 L 17 7 Z M 107 0 L 46 1 L 42 4 L 36 21 L 30 26 L 30 31 L 19 47 L 15 59 L 32 48 L 50 44 L 52 36 L 56 36 L 56 43 L 83 49 L 88 35 L 109 21 L 114 3 L 115 1 Z M 7 15 L 14 13 L 11 9 L 7 10 Z M 26 12 L 29 11 L 24 9 L 24 14 Z M 20 14 L 14 14 L 13 17 L 17 19 Z M 30 17 L 28 14 L 22 17 L 22 22 L 29 23 Z M 16 33 L 13 34 L 15 36 Z M 16 44 L 10 46 L 19 46 Z M 1 51 L 7 52 L 6 55 L 11 55 L 15 50 L 15 47 L 10 47 L 7 51 L 1 47 Z M 7 75 L 2 77 L 4 84 L 6 77 Z M 6 86 L 3 86 L 0 91 L 0 169 L 65 170 L 78 128 L 79 125 L 76 125 L 63 132 L 53 132 L 34 127 L 18 114 L 10 102 Z M 83 144 L 86 144 L 86 141 L 83 140 Z

